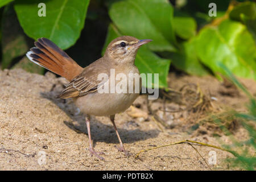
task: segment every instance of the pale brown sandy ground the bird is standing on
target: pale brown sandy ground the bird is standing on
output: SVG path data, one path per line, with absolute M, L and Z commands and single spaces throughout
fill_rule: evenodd
M 229 107 L 236 108 L 246 102 L 242 94 L 236 96 L 239 102 L 234 102 L 230 96 L 224 99 L 225 94 L 216 91 L 221 90 L 221 83 L 210 76 L 203 79 L 170 75 L 168 81 L 172 88 L 181 83 L 197 84 L 200 81 L 202 88 L 206 85 L 214 97 Z M 219 140 L 207 129 L 204 129 L 206 133 L 202 133 L 201 128 L 193 133 L 186 132 L 186 126 L 192 122 L 185 121 L 187 115 L 169 114 L 168 122 L 173 127 L 162 131 L 163 126 L 154 122 L 151 115 L 149 119 L 143 119 L 131 117 L 128 111 L 117 114 L 116 125 L 126 149 L 133 154 L 131 156 L 125 156 L 114 147 L 118 139 L 109 118 L 93 117 L 93 145 L 96 151 L 105 153 L 102 155 L 105 161 L 91 157 L 87 150 L 84 115 L 77 112 L 72 100 L 56 98 L 64 82 L 64 78 L 56 78 L 49 72 L 42 76 L 22 69 L 0 71 L 0 170 L 209 170 L 188 144 L 158 148 L 142 153 L 141 159 L 134 158 L 143 149 L 184 139 L 220 146 Z M 250 81 L 247 85 L 255 94 L 255 82 Z M 139 110 L 147 111 L 146 96 L 140 96 L 135 101 L 134 106 L 138 105 L 141 105 Z M 236 132 L 242 133 L 240 129 Z M 228 142 L 229 137 L 223 135 L 221 140 Z M 225 162 L 225 158 L 232 157 L 228 152 L 205 146 L 195 147 L 207 162 L 209 152 L 216 151 L 217 163 L 209 164 L 212 169 L 232 169 Z

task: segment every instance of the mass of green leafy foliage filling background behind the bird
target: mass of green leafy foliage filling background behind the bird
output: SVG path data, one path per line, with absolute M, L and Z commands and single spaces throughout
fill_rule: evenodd
M 105 36 L 92 49 L 103 51 L 115 37 L 135 36 L 152 39 L 138 51 L 135 64 L 141 73 L 159 73 L 160 88 L 167 87 L 167 75 L 172 67 L 193 75 L 223 73 L 218 63 L 224 64 L 236 76 L 256 79 L 256 3 L 252 1 L 167 1 L 167 0 L 47 0 L 46 16 L 38 16 L 39 0 L 2 0 L 0 2 L 1 67 L 19 67 L 30 38 L 46 37 L 63 49 L 79 51 L 71 57 L 90 57 L 92 51 L 81 51 L 77 40 L 85 37 L 94 43 L 89 30 L 91 24 L 101 24 L 99 34 Z M 209 16 L 209 3 L 217 5 L 217 16 Z M 89 6 L 89 9 L 88 9 Z M 14 10 L 15 13 L 14 13 Z M 10 18 L 9 14 L 13 17 Z M 15 15 L 16 14 L 16 15 Z M 109 15 L 106 18 L 106 15 Z M 18 20 L 16 18 L 18 17 Z M 85 24 L 86 23 L 88 26 Z M 84 27 L 85 24 L 85 27 Z M 15 27 L 15 28 L 12 28 Z M 96 27 L 97 28 L 97 27 Z M 23 30 L 23 31 L 22 31 Z M 99 32 L 91 30 L 90 32 Z M 106 34 L 106 31 L 108 33 Z M 82 36 L 81 36 L 82 34 Z M 106 35 L 105 35 L 106 34 Z M 99 35 L 102 37 L 102 35 Z M 76 44 L 75 44 L 76 43 Z M 73 46 L 75 45 L 75 46 Z M 71 48 L 71 46 L 73 46 Z M 86 52 L 86 54 L 85 54 Z M 88 55 L 89 54 L 89 55 Z M 100 55 L 95 56 L 96 60 Z M 84 64 L 84 59 L 78 60 Z M 20 67 L 26 69 L 22 59 Z M 91 63 L 93 60 L 86 60 Z M 28 71 L 41 72 L 28 65 Z M 33 71 L 34 70 L 34 71 Z M 143 83 L 144 86 L 146 83 Z

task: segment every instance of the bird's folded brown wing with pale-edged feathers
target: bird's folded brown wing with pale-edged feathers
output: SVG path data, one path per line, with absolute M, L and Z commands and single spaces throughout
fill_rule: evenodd
M 96 62 L 101 63 L 102 61 L 98 60 Z M 104 64 L 95 64 L 96 62 L 84 68 L 84 71 L 82 71 L 80 75 L 78 75 L 71 82 L 69 82 L 67 87 L 58 97 L 79 97 L 96 92 L 98 87 L 104 84 L 104 81 L 102 82 L 102 80 L 97 80 L 98 74 L 109 73 L 108 68 L 105 67 Z M 97 65 L 97 67 L 95 65 Z

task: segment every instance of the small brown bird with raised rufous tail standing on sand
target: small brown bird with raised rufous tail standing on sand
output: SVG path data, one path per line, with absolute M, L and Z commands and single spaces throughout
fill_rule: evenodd
M 101 156 L 102 152 L 96 152 L 92 146 L 90 135 L 91 115 L 104 115 L 110 118 L 120 144 L 117 147 L 118 151 L 128 153 L 119 137 L 114 118 L 115 114 L 128 109 L 139 96 L 139 93 L 99 93 L 98 90 L 101 85 L 108 82 L 110 78 L 102 81 L 98 80 L 98 75 L 105 73 L 110 76 L 111 69 L 114 69 L 115 74 L 122 73 L 126 76 L 130 73 L 139 74 L 139 70 L 134 64 L 137 51 L 143 44 L 151 41 L 151 39 L 139 40 L 133 36 L 115 38 L 109 43 L 104 56 L 85 68 L 80 67 L 67 53 L 47 38 L 39 38 L 34 42 L 35 47 L 30 48 L 30 51 L 26 53 L 28 59 L 33 63 L 69 81 L 69 84 L 58 98 L 73 98 L 75 105 L 86 115 L 85 123 L 89 138 L 88 150 L 91 156 L 94 155 L 101 160 L 105 160 Z M 129 81 L 126 84 L 127 87 L 134 86 Z M 141 81 L 139 82 L 139 90 L 141 90 Z

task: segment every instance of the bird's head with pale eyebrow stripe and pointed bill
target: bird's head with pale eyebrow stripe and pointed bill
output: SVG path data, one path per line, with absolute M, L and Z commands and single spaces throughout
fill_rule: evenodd
M 120 36 L 109 43 L 105 56 L 117 64 L 134 63 L 139 47 L 151 41 L 150 39 L 139 40 L 133 36 Z

